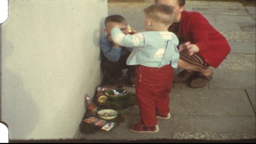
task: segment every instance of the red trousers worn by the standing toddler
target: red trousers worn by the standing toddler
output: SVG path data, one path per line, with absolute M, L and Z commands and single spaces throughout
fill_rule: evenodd
M 165 65 L 161 68 L 137 65 L 135 91 L 140 121 L 145 126 L 157 125 L 156 113 L 170 112 L 169 94 L 173 84 L 173 67 Z

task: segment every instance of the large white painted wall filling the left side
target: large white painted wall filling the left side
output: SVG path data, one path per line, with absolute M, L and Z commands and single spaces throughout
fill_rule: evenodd
M 107 0 L 9 0 L 0 25 L 1 119 L 10 140 L 75 138 L 102 80 Z

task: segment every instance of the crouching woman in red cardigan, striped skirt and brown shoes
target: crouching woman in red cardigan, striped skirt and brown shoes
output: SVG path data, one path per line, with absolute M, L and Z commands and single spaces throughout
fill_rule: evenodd
M 185 0 L 155 0 L 156 3 L 174 6 L 175 23 L 170 26 L 179 38 L 180 59 L 183 69 L 173 82 L 188 82 L 191 88 L 201 88 L 213 77 L 217 68 L 230 52 L 225 37 L 198 12 L 184 10 Z

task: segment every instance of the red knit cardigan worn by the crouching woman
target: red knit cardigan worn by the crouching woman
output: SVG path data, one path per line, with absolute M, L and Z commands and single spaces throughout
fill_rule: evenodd
M 217 68 L 231 50 L 226 38 L 198 12 L 183 10 L 181 28 L 185 41 L 198 46 L 198 53 L 211 67 Z

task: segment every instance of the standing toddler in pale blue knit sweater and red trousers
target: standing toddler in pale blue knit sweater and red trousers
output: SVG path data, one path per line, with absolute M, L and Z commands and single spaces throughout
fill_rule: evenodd
M 168 31 L 174 21 L 174 7 L 154 4 L 144 9 L 146 32 L 123 34 L 121 25 L 111 26 L 112 39 L 121 46 L 134 47 L 127 59 L 136 65 L 135 91 L 140 117 L 130 126 L 134 132 L 158 132 L 157 118 L 170 119 L 169 93 L 179 51 L 177 36 Z

